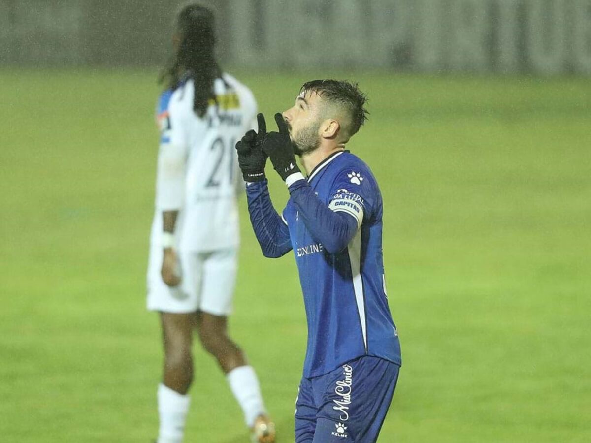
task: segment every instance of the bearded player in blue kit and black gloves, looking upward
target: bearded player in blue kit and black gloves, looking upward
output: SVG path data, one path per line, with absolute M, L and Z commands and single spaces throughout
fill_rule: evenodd
M 293 249 L 300 273 L 308 341 L 296 443 L 375 442 L 401 366 L 385 290 L 381 193 L 368 165 L 345 150 L 366 120 L 365 102 L 356 84 L 313 80 L 275 115 L 279 132 L 267 133 L 259 114 L 259 132 L 236 144 L 262 253 Z M 290 193 L 281 215 L 269 197 L 267 158 Z

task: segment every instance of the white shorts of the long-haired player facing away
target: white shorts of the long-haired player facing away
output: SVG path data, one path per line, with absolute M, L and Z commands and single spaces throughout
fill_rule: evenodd
M 150 248 L 148 262 L 148 310 L 185 314 L 197 310 L 213 315 L 232 312 L 236 284 L 236 249 L 177 251 L 181 283 L 167 286 L 160 273 L 163 250 Z

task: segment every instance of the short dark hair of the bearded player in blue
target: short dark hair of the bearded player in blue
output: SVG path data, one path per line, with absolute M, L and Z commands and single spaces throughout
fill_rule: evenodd
M 364 108 L 368 97 L 358 86 L 358 83 L 348 80 L 311 80 L 304 83 L 300 93 L 316 92 L 324 100 L 343 106 L 351 118 L 351 127 L 348 128 L 347 138 L 355 134 L 361 125 L 368 119 L 368 110 Z

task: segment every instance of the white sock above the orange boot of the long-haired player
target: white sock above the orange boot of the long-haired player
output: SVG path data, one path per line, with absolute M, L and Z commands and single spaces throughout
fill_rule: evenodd
M 246 426 L 251 428 L 255 424 L 256 417 L 267 413 L 255 370 L 252 366 L 240 366 L 232 369 L 226 377 L 232 393 L 242 408 Z

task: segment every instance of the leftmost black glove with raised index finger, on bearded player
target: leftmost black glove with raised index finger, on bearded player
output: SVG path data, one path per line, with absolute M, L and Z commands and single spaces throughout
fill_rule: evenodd
M 238 151 L 238 164 L 242 171 L 244 181 L 261 181 L 265 180 L 265 163 L 267 162 L 267 154 L 262 150 L 263 142 L 267 137 L 267 123 L 262 114 L 256 116 L 258 121 L 259 132 L 256 133 L 252 129 L 242 137 L 242 140 L 236 143 L 236 151 Z

